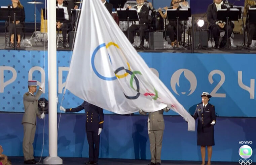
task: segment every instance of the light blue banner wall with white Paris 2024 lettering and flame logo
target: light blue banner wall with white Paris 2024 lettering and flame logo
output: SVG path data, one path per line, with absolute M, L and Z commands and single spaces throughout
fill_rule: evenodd
M 47 84 L 47 52 L 1 51 L 0 55 L 0 111 L 24 112 L 23 94 L 28 91 L 28 79 Z M 254 54 L 186 54 L 140 53 L 150 68 L 191 114 L 200 94 L 213 96 L 218 116 L 256 117 Z M 45 57 L 45 58 L 44 58 Z M 63 97 L 71 52 L 57 52 L 57 80 L 59 100 Z M 48 99 L 48 92 L 41 96 Z M 60 101 L 59 101 L 60 102 Z M 63 106 L 76 107 L 82 100 L 69 91 Z M 60 105 L 59 105 L 60 106 Z M 84 112 L 81 112 L 84 113 Z M 110 113 L 104 111 L 104 113 Z M 176 115 L 173 111 L 166 113 Z

